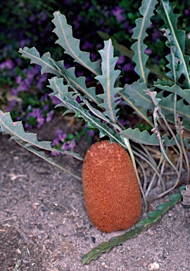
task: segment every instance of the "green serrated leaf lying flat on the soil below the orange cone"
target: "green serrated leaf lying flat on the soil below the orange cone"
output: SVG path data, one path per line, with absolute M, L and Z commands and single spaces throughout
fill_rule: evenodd
M 141 231 L 150 227 L 152 224 L 160 221 L 161 217 L 167 212 L 167 210 L 173 206 L 175 206 L 182 199 L 182 194 L 177 193 L 170 197 L 170 202 L 163 203 L 156 208 L 156 211 L 148 212 L 148 217 L 145 219 L 141 219 L 137 224 L 134 225 L 135 229 L 127 231 L 125 234 L 120 236 L 115 236 L 110 240 L 100 243 L 99 246 L 93 248 L 87 254 L 85 254 L 82 258 L 82 265 L 89 263 L 91 260 L 95 260 L 101 255 L 101 253 L 109 251 L 114 246 L 118 246 L 122 244 L 127 239 L 131 239 L 137 236 Z

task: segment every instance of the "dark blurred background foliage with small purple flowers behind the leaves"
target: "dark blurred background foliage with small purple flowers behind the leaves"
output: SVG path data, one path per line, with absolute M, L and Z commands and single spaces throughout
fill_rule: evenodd
M 175 13 L 184 13 L 179 17 L 177 27 L 190 32 L 189 4 L 190 1 L 172 1 L 176 5 Z M 51 52 L 54 59 L 64 59 L 66 66 L 72 66 L 70 56 L 64 56 L 58 45 L 54 46 L 55 34 L 52 33 L 53 11 L 61 11 L 67 16 L 68 24 L 72 25 L 75 37 L 81 40 L 81 49 L 91 54 L 91 60 L 100 59 L 98 50 L 103 48 L 103 39 L 99 31 L 107 33 L 128 49 L 132 42 L 132 28 L 139 17 L 141 1 L 55 1 L 42 0 L 13 2 L 1 1 L 0 8 L 4 11 L 0 17 L 0 109 L 11 111 L 13 120 L 22 120 L 25 128 L 41 127 L 54 114 L 56 99 L 49 98 L 46 88 L 47 75 L 39 75 L 39 66 L 31 67 L 29 61 L 18 54 L 20 47 L 37 47 L 39 52 Z M 150 64 L 159 64 L 165 71 L 167 60 L 165 54 L 165 37 L 159 27 L 163 23 L 156 13 L 148 28 L 146 54 L 150 56 Z M 189 42 L 189 41 L 188 41 Z M 188 43 L 187 43 L 188 44 Z M 53 50 L 51 49 L 53 48 Z M 188 46 L 186 51 L 188 51 Z M 169 52 L 169 49 L 168 49 Z M 115 50 L 120 56 L 117 62 L 122 70 L 123 83 L 132 83 L 138 79 L 134 71 L 134 63 L 127 56 Z M 87 76 L 88 86 L 94 85 L 94 78 L 80 64 L 76 66 L 77 76 Z M 40 90 L 40 92 L 39 92 Z M 101 90 L 99 90 L 101 92 Z M 129 119 L 131 117 L 129 116 Z M 137 121 L 135 121 L 136 123 Z M 133 126 L 124 122 L 126 126 Z M 136 124 L 135 124 L 136 125 Z M 138 124 L 141 130 L 148 128 L 142 121 Z

